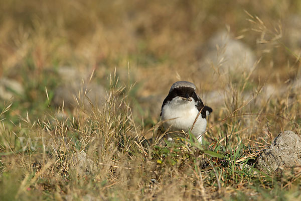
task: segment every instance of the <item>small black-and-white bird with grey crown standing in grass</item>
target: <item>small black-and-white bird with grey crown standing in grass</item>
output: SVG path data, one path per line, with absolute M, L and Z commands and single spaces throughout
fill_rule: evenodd
M 165 129 L 172 131 L 168 140 L 183 136 L 183 131 L 189 131 L 202 144 L 202 134 L 206 130 L 206 117 L 212 113 L 212 108 L 205 106 L 196 93 L 196 86 L 189 81 L 177 81 L 163 101 L 161 119 Z

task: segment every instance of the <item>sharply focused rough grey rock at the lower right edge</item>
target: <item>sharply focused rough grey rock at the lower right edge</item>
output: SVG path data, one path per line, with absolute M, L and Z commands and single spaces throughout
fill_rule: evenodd
M 301 164 L 301 137 L 292 131 L 284 131 L 262 152 L 255 166 L 264 172 L 274 172 L 291 168 L 296 163 Z

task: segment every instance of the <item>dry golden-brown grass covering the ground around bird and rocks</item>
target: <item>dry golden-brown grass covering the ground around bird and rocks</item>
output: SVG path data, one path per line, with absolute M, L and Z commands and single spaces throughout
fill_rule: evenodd
M 0 76 L 25 89 L 0 105 L 0 199 L 300 198 L 299 166 L 277 175 L 252 166 L 280 131 L 301 131 L 298 50 L 283 30 L 300 11 L 298 1 L 0 2 Z M 258 63 L 204 76 L 204 44 L 225 25 Z M 103 107 L 54 108 L 61 66 L 106 86 Z M 161 104 L 179 79 L 201 96 L 225 94 L 210 105 L 202 146 L 192 136 L 166 144 L 160 109 L 141 103 Z M 280 92 L 266 97 L 270 85 Z

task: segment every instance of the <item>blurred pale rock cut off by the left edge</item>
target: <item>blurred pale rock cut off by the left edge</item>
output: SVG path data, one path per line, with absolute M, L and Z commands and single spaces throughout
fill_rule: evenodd
M 9 100 L 15 95 L 24 95 L 24 88 L 18 81 L 2 77 L 0 79 L 0 98 Z

